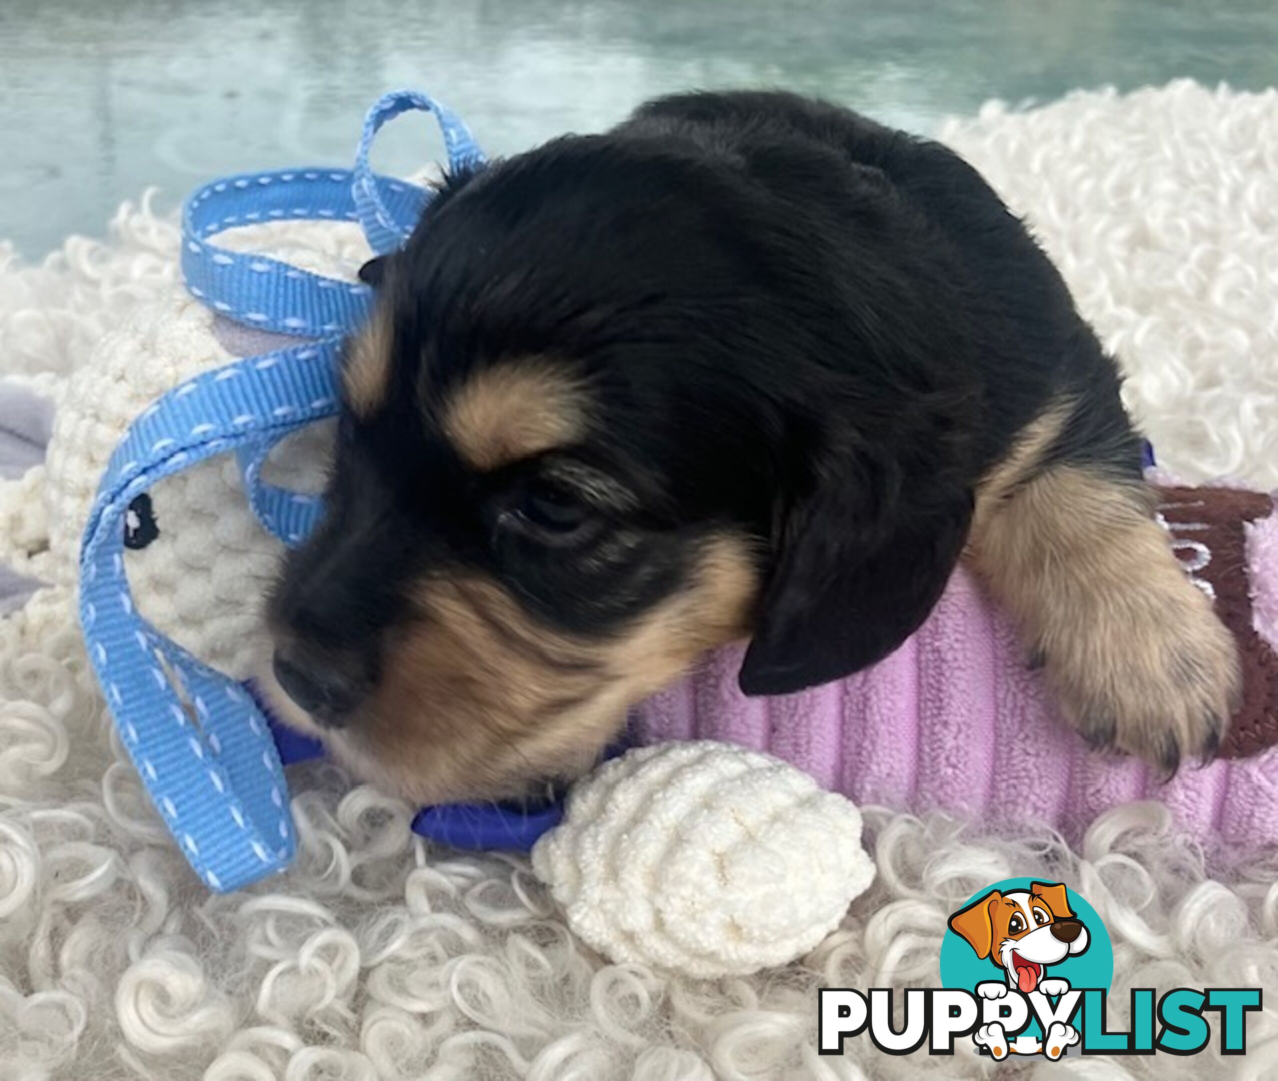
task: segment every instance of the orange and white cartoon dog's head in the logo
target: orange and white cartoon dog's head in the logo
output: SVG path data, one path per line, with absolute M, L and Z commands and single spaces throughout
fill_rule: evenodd
M 1038 989 L 1048 965 L 1058 965 L 1088 948 L 1090 936 L 1070 910 L 1059 883 L 1031 883 L 1029 889 L 992 889 L 955 912 L 950 929 L 982 959 L 1003 970 L 1007 986 L 1022 994 Z

